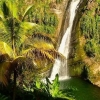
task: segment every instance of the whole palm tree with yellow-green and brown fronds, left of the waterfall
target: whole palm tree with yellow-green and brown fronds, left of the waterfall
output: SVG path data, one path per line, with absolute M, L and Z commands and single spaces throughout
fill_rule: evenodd
M 25 21 L 33 5 L 19 16 L 14 2 L 3 0 L 0 10 L 0 82 L 7 85 L 11 72 L 14 71 L 13 100 L 15 100 L 17 69 L 21 68 L 23 61 L 30 59 L 33 65 L 38 66 L 43 59 L 53 63 L 55 58 L 63 58 L 51 45 L 52 39 L 30 31 L 38 27 L 35 23 Z M 47 41 L 48 48 L 36 46 L 34 42 L 36 39 Z

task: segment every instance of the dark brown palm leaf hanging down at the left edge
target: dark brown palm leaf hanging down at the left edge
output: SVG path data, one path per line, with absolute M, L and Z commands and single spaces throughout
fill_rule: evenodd
M 0 63 L 0 82 L 4 85 L 8 84 L 8 79 L 10 77 L 10 62 L 1 62 Z

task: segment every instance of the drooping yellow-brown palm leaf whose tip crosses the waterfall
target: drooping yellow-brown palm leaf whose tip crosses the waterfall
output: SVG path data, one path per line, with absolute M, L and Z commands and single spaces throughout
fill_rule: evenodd
M 26 58 L 33 60 L 33 65 L 36 66 L 36 68 L 43 68 L 45 63 L 48 63 L 50 61 L 51 63 L 54 63 L 55 59 L 61 59 L 66 60 L 66 58 L 57 52 L 55 49 L 40 49 L 40 48 L 34 48 L 34 49 L 27 49 L 23 51 L 23 54 L 26 56 Z M 44 62 L 45 61 L 45 62 Z M 50 63 L 49 62 L 49 63 Z

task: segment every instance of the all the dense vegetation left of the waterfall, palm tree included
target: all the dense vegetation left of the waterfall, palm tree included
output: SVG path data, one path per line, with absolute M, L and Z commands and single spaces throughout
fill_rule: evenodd
M 0 1 L 0 100 L 73 100 L 59 90 L 58 75 L 53 83 L 37 80 L 55 58 L 65 59 L 54 46 L 58 19 L 52 9 L 61 2 Z

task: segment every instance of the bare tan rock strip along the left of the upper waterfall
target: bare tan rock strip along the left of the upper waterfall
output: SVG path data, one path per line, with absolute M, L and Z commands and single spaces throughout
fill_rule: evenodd
M 57 37 L 56 41 L 57 41 L 57 48 L 59 47 L 59 44 L 60 44 L 60 41 L 61 41 L 61 38 L 64 34 L 64 31 L 67 27 L 67 21 L 66 19 L 68 19 L 68 16 L 67 16 L 67 9 L 68 9 L 68 4 L 69 4 L 69 1 L 70 0 L 63 0 L 63 2 L 59 5 L 56 6 L 56 8 L 52 9 L 53 12 L 55 12 L 57 14 L 57 17 L 58 17 L 58 20 L 59 20 L 59 23 L 58 23 L 58 27 L 57 27 L 57 31 L 56 31 L 56 36 Z M 67 18 L 66 18 L 67 16 Z M 59 40 L 58 40 L 58 37 L 59 37 Z

